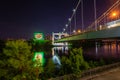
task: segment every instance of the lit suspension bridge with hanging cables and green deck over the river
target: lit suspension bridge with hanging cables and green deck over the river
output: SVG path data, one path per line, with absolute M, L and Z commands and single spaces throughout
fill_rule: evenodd
M 81 30 L 76 31 L 76 14 L 81 4 Z M 55 40 L 55 42 L 68 42 L 74 40 L 98 40 L 98 39 L 119 39 L 120 38 L 120 0 L 116 0 L 100 17 L 96 12 L 96 0 L 94 0 L 94 22 L 84 28 L 84 13 L 83 0 L 79 0 L 71 18 L 68 19 L 68 24 L 65 25 L 63 32 L 68 29 L 67 36 Z M 72 26 L 74 25 L 74 29 Z M 72 30 L 73 29 L 73 30 Z

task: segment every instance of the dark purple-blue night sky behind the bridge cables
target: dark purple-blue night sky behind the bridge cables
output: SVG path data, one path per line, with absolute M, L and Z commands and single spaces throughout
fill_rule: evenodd
M 100 16 L 116 0 L 96 0 Z M 34 32 L 62 32 L 78 0 L 0 0 L 0 39 L 30 39 Z M 81 21 L 77 12 L 77 28 Z M 93 22 L 93 0 L 84 0 L 84 22 Z

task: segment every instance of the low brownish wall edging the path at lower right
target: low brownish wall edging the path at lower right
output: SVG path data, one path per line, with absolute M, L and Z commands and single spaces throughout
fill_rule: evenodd
M 93 68 L 93 69 L 89 69 L 89 70 L 86 70 L 86 71 L 82 72 L 79 75 L 69 74 L 69 75 L 64 75 L 64 76 L 57 77 L 57 78 L 51 78 L 49 80 L 78 80 L 78 79 L 81 79 L 81 78 L 84 78 L 84 77 L 88 77 L 85 80 L 91 80 L 94 77 L 99 76 L 99 73 L 109 71 L 111 69 L 115 69 L 115 68 L 118 68 L 118 67 L 120 67 L 120 62 L 114 63 L 114 64 L 109 64 L 109 65 L 104 65 L 104 66 L 101 66 L 101 67 L 96 67 L 96 68 Z

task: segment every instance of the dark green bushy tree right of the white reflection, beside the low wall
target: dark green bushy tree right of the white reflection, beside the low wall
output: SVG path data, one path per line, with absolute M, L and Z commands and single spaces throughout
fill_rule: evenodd
M 84 60 L 82 48 L 75 48 L 70 51 L 68 57 L 62 57 L 62 72 L 79 74 L 81 71 L 89 68 L 88 63 Z

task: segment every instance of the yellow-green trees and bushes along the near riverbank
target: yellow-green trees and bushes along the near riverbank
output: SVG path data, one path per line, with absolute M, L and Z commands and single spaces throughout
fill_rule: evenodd
M 44 46 L 42 46 L 44 45 Z M 47 45 L 50 45 L 48 42 Z M 44 48 L 45 44 L 34 45 L 36 50 Z M 98 66 L 94 61 L 89 64 L 84 60 L 82 48 L 75 48 L 69 55 L 61 57 L 61 68 L 57 69 L 52 59 L 47 59 L 44 67 L 34 66 L 31 46 L 26 41 L 7 41 L 3 53 L 0 54 L 0 79 L 4 80 L 46 80 L 66 74 L 77 74 L 90 67 Z M 42 49 L 46 50 L 46 49 Z M 48 49 L 47 49 L 48 50 Z M 35 61 L 37 63 L 37 61 Z M 100 61 L 104 65 L 104 61 Z M 39 65 L 39 63 L 38 63 Z

